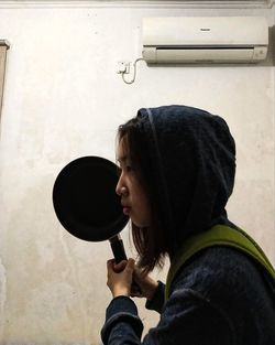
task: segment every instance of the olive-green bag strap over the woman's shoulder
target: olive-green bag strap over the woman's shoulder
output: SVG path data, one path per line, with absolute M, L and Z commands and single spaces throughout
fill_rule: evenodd
M 229 246 L 244 251 L 260 262 L 275 279 L 275 270 L 261 247 L 242 229 L 233 229 L 226 225 L 216 225 L 211 229 L 188 238 L 172 261 L 165 287 L 165 299 L 169 297 L 173 279 L 180 267 L 196 252 L 212 246 Z

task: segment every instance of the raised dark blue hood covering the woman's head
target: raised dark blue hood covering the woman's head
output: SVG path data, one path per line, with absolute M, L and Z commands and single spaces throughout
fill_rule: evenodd
M 226 121 L 186 106 L 140 109 L 150 154 L 150 181 L 169 255 L 216 224 L 229 224 L 235 145 Z

